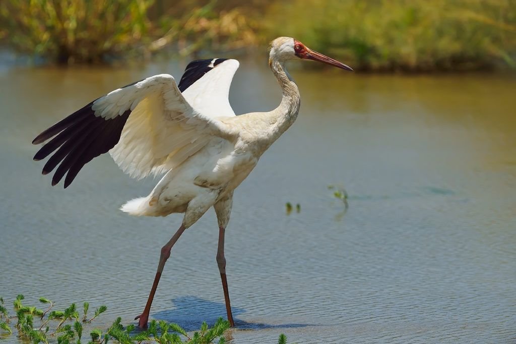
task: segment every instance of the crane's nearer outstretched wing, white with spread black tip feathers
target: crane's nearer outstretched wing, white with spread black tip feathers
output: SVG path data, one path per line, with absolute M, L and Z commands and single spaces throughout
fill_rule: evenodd
M 181 164 L 214 136 L 228 135 L 223 122 L 192 108 L 171 75 L 160 74 L 111 91 L 42 132 L 33 144 L 55 137 L 34 160 L 55 151 L 43 174 L 59 165 L 52 185 L 66 174 L 67 187 L 87 162 L 109 150 L 125 173 L 142 178 Z

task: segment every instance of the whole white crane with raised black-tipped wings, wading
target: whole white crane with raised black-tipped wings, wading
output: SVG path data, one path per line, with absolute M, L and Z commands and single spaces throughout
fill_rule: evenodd
M 52 185 L 66 174 L 67 187 L 87 162 L 107 151 L 131 177 L 165 173 L 148 196 L 130 200 L 121 208 L 137 216 L 184 213 L 178 231 L 161 249 L 149 299 L 135 318 L 141 328 L 147 327 L 172 246 L 211 207 L 219 225 L 217 264 L 225 306 L 234 326 L 225 274 L 224 231 L 233 191 L 298 115 L 299 90 L 285 69 L 285 62 L 292 59 L 352 70 L 294 38 L 279 37 L 271 42 L 269 55 L 269 66 L 283 92 L 275 110 L 235 116 L 228 96 L 238 61 L 198 60 L 188 65 L 179 86 L 168 74 L 148 77 L 94 100 L 34 139 L 33 144 L 40 144 L 53 137 L 34 157 L 44 159 L 57 149 L 43 167 L 46 175 L 59 164 Z

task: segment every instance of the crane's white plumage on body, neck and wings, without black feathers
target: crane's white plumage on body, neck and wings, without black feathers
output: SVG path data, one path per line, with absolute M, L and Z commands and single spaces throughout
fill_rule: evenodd
M 147 197 L 130 200 L 121 210 L 138 216 L 185 212 L 183 224 L 189 227 L 219 200 L 232 197 L 233 190 L 251 173 L 263 152 L 294 122 L 299 111 L 297 86 L 282 64 L 271 67 L 289 91 L 271 112 L 235 116 L 228 96 L 238 68 L 236 60 L 219 64 L 186 89 L 182 97 L 173 78 L 162 74 L 118 89 L 106 95 L 106 99 L 100 98 L 98 104 L 93 103 L 96 112 L 109 116 L 123 113 L 129 105 L 119 99 L 134 104 L 134 99 L 145 97 L 142 88 L 152 92 L 134 107 L 119 143 L 109 153 L 133 177 L 168 171 Z M 130 92 L 133 96 L 123 94 Z M 116 106 L 108 101 L 111 94 L 118 96 L 111 101 L 116 101 Z M 165 116 L 156 116 L 163 113 Z M 160 150 L 168 154 L 154 153 Z M 221 209 L 217 215 L 229 211 Z M 229 214 L 227 217 L 229 220 Z

